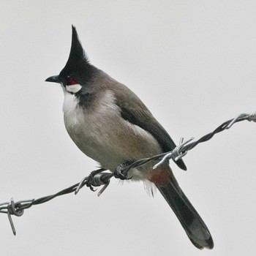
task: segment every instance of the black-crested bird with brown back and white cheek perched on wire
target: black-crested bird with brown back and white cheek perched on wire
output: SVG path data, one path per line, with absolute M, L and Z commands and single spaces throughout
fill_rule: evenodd
M 67 64 L 45 81 L 60 83 L 64 91 L 64 124 L 70 138 L 104 170 L 152 157 L 176 148 L 170 135 L 140 98 L 89 61 L 75 26 Z M 175 161 L 187 170 L 182 159 Z M 157 187 L 178 217 L 192 244 L 212 249 L 208 227 L 179 187 L 169 162 L 129 170 L 129 179 Z

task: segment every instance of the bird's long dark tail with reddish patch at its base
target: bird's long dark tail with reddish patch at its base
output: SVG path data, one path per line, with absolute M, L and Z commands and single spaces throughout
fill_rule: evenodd
M 158 170 L 154 171 L 149 180 L 157 186 L 157 189 L 165 197 L 165 200 L 178 217 L 192 244 L 199 249 L 205 247 L 212 249 L 214 247 L 214 241 L 211 238 L 211 233 L 203 222 L 203 219 L 197 214 L 195 208 L 178 186 L 178 182 L 173 176 L 170 167 L 167 165 L 159 167 Z

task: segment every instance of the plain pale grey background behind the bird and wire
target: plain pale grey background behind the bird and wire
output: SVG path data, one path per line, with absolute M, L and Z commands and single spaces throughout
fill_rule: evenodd
M 45 83 L 66 64 L 71 24 L 91 63 L 125 83 L 178 143 L 255 111 L 255 1 L 0 3 L 0 202 L 50 195 L 97 164 L 72 143 L 63 92 Z M 214 237 L 199 251 L 159 193 L 117 180 L 13 217 L 1 255 L 255 255 L 255 123 L 189 151 L 176 177 Z

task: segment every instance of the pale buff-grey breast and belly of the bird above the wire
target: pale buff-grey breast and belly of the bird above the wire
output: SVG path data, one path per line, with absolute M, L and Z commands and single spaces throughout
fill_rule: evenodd
M 108 170 L 136 159 L 162 153 L 154 137 L 121 117 L 116 105 L 94 111 L 77 106 L 64 111 L 70 138 L 86 154 Z

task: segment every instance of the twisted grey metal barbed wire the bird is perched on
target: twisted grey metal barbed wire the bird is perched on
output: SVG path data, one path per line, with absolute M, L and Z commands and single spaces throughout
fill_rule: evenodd
M 14 223 L 12 222 L 12 215 L 15 215 L 17 217 L 20 217 L 23 215 L 24 210 L 27 208 L 31 208 L 31 206 L 36 206 L 41 203 L 46 203 L 50 200 L 53 200 L 55 197 L 59 197 L 61 195 L 66 195 L 72 192 L 75 192 L 75 195 L 78 194 L 79 190 L 86 186 L 89 187 L 92 191 L 95 191 L 95 187 L 103 186 L 102 189 L 99 190 L 98 196 L 102 194 L 102 192 L 105 191 L 105 189 L 110 184 L 110 179 L 127 177 L 129 170 L 135 167 L 140 167 L 142 165 L 145 165 L 148 162 L 152 161 L 159 161 L 156 165 L 154 165 L 153 168 L 159 167 L 159 165 L 162 165 L 164 162 L 169 161 L 170 159 L 173 159 L 174 161 L 177 161 L 178 159 L 181 159 L 187 154 L 187 151 L 191 150 L 192 148 L 195 148 L 199 143 L 206 142 L 214 137 L 219 132 L 224 131 L 225 129 L 230 129 L 230 127 L 233 126 L 233 124 L 239 122 L 239 121 L 255 121 L 256 122 L 256 112 L 252 113 L 241 113 L 240 115 L 236 116 L 235 118 L 232 118 L 228 121 L 225 121 L 223 124 L 221 124 L 219 127 L 214 129 L 213 132 L 208 133 L 207 135 L 204 135 L 198 140 L 195 140 L 195 138 L 190 138 L 189 140 L 184 141 L 184 138 L 181 138 L 180 143 L 176 148 L 173 149 L 173 151 L 166 152 L 163 154 L 158 154 L 154 157 L 139 159 L 138 161 L 133 162 L 131 165 L 120 165 L 116 168 L 116 173 L 110 173 L 108 170 L 105 169 L 98 169 L 94 170 L 90 173 L 89 176 L 82 179 L 77 184 L 72 185 L 71 187 L 68 187 L 66 189 L 61 190 L 60 192 L 57 192 L 53 195 L 47 195 L 45 197 L 39 197 L 37 199 L 31 199 L 31 200 L 20 200 L 15 203 L 14 199 L 11 198 L 10 202 L 0 203 L 0 213 L 7 214 L 8 219 L 10 221 L 10 225 L 12 227 L 12 233 L 16 235 L 16 230 Z

